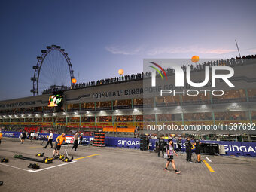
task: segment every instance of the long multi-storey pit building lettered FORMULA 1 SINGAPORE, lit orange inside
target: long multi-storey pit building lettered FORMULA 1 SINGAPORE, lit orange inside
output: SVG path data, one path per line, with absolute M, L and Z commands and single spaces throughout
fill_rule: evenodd
M 190 66 L 190 69 L 197 74 L 203 71 L 204 66 L 232 66 L 238 71 L 246 68 L 255 72 L 255 57 L 204 62 Z M 165 71 L 170 77 L 175 74 L 173 69 Z M 189 123 L 256 123 L 256 88 L 251 86 L 253 78 L 240 79 L 242 87 L 225 90 L 223 96 L 200 93 L 197 96 L 145 98 L 139 90 L 146 78 L 151 78 L 150 72 L 75 84 L 72 89 L 52 86 L 40 96 L 1 101 L 0 127 L 2 130 L 26 129 L 42 133 L 79 130 L 84 135 L 105 130 L 108 136 L 134 137 L 142 133 L 143 122 L 147 121 L 172 122 L 178 126 Z M 56 92 L 63 96 L 59 111 L 47 106 L 49 96 Z M 149 111 L 147 114 L 144 113 L 145 108 Z M 206 137 L 250 142 L 255 139 L 253 135 L 243 133 L 223 133 L 220 136 L 208 133 Z

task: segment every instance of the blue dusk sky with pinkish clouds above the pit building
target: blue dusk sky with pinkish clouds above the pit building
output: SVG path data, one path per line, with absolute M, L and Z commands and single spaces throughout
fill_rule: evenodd
M 145 58 L 256 54 L 256 1 L 1 0 L 0 100 L 32 96 L 32 66 L 47 45 L 69 53 L 75 78 L 142 72 Z M 63 66 L 67 67 L 67 66 Z

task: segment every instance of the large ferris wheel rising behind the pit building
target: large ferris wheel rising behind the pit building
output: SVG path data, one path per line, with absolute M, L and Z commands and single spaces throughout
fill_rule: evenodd
M 33 66 L 34 76 L 31 78 L 33 87 L 30 92 L 38 96 L 52 87 L 73 87 L 74 71 L 68 53 L 60 46 L 51 45 L 41 50 L 37 56 L 37 64 Z

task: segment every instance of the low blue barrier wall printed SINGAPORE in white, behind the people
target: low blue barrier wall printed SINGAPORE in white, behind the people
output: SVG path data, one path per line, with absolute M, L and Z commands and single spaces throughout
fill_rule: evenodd
M 8 132 L 2 131 L 4 137 L 19 138 L 20 132 Z M 39 133 L 38 139 L 47 139 L 48 133 Z M 53 141 L 59 136 L 53 134 Z M 90 144 L 90 141 L 94 139 L 94 136 L 83 136 L 83 143 Z M 150 150 L 154 150 L 157 139 L 150 140 Z M 74 139 L 72 135 L 66 135 L 66 142 L 73 143 Z M 139 149 L 139 138 L 121 138 L 121 137 L 105 137 L 105 145 L 108 147 L 117 148 L 135 148 Z M 185 151 L 185 140 L 181 140 L 181 149 Z M 227 155 L 239 155 L 246 157 L 256 157 L 256 142 L 223 142 L 223 141 L 201 141 L 203 143 L 217 143 L 224 145 Z M 174 139 L 174 147 L 177 148 L 177 142 Z

